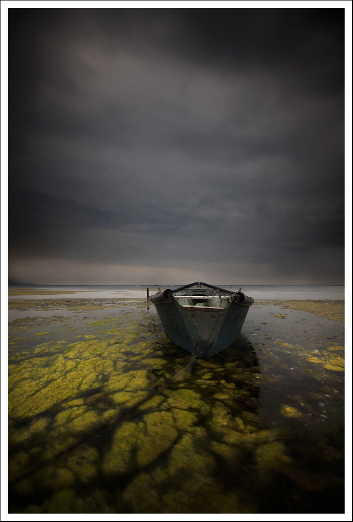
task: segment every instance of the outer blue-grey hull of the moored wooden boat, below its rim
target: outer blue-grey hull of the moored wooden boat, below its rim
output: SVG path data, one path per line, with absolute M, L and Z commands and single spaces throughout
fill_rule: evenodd
M 173 295 L 154 304 L 169 339 L 203 358 L 221 352 L 239 337 L 249 310 L 234 301 L 226 307 L 182 306 Z

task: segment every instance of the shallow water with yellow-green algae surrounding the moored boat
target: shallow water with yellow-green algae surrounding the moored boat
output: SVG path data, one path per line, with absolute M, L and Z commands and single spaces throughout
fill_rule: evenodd
M 343 301 L 208 360 L 147 303 L 9 301 L 9 513 L 344 513 Z

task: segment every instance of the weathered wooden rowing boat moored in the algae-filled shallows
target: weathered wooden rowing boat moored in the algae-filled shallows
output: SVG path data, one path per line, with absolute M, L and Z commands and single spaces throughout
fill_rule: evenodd
M 192 283 L 156 293 L 150 300 L 169 339 L 193 355 L 206 358 L 227 348 L 240 335 L 254 302 L 240 290 Z

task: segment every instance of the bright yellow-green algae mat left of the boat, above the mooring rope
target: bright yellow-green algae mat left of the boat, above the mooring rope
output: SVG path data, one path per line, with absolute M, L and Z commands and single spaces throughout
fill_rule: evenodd
M 10 480 L 148 397 L 149 375 L 161 372 L 163 352 L 161 343 L 137 342 L 140 335 L 127 323 L 105 340 L 43 343 L 36 357 L 9 365 Z

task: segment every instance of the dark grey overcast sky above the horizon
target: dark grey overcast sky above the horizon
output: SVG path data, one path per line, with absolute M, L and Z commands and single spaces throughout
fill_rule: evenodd
M 9 9 L 10 277 L 342 284 L 344 9 Z

